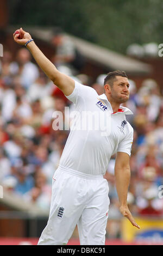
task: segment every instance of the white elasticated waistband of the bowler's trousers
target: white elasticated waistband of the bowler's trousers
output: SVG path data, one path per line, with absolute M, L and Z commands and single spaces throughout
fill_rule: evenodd
M 71 175 L 74 175 L 74 176 L 77 176 L 77 177 L 83 178 L 83 179 L 90 179 L 90 180 L 99 179 L 99 178 L 103 179 L 102 174 L 93 175 L 93 174 L 82 173 L 82 172 L 79 172 L 78 170 L 73 170 L 73 169 L 70 169 L 70 168 L 66 168 L 66 167 L 61 166 L 61 165 L 59 165 L 58 170 L 61 170 L 62 172 L 69 173 Z

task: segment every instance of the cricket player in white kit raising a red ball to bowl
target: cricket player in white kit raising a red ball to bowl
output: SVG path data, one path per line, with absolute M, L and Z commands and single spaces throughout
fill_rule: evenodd
M 62 74 L 36 46 L 29 33 L 20 28 L 14 40 L 25 45 L 40 68 L 73 102 L 78 117 L 83 111 L 103 113 L 99 123 L 109 120 L 103 129 L 72 129 L 53 176 L 49 219 L 38 245 L 66 245 L 78 225 L 80 245 L 105 245 L 109 210 L 109 187 L 103 175 L 110 157 L 116 153 L 115 180 L 120 211 L 136 228 L 127 206 L 130 181 L 129 159 L 133 127 L 126 120 L 132 112 L 120 106 L 129 99 L 129 81 L 124 71 L 110 72 L 104 80 L 105 93 L 84 86 Z M 78 117 L 76 123 L 78 126 Z

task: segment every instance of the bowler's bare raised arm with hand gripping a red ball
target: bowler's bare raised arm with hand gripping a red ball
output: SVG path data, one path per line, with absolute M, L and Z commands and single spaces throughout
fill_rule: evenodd
M 20 33 L 22 35 L 22 39 L 18 39 L 18 34 L 14 35 L 14 40 L 20 44 L 25 45 L 27 41 L 32 39 L 29 33 L 23 31 L 20 28 Z M 31 41 L 27 44 L 27 48 L 36 60 L 36 63 L 40 66 L 40 68 L 45 72 L 45 74 L 53 81 L 53 83 L 60 89 L 62 92 L 68 96 L 74 90 L 74 80 L 62 74 L 57 70 L 54 64 L 42 53 L 39 47 L 36 46 L 34 41 Z

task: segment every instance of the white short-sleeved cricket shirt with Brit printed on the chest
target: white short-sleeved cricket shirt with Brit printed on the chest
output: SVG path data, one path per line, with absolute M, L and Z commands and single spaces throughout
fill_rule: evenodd
M 75 82 L 73 93 L 66 97 L 74 103 L 78 113 L 74 118 L 77 127 L 82 127 L 80 118 L 83 112 L 102 113 L 102 118 L 109 120 L 110 132 L 104 136 L 101 129 L 86 127 L 86 130 L 70 130 L 60 159 L 61 167 L 85 174 L 104 175 L 112 155 L 121 151 L 130 156 L 133 127 L 126 120 L 126 114 L 133 113 L 128 108 L 120 106 L 118 112 L 113 113 L 105 94 L 98 95 L 95 89 L 78 82 Z M 96 125 L 97 122 L 102 123 L 102 119 L 97 118 Z

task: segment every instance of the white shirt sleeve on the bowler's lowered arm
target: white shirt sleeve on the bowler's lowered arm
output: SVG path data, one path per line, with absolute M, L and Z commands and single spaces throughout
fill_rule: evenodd
M 129 132 L 127 133 L 127 136 L 122 139 L 122 141 L 119 143 L 117 152 L 124 152 L 127 153 L 129 156 L 131 155 L 131 148 L 133 145 L 133 135 L 134 135 L 134 129 L 130 126 Z

